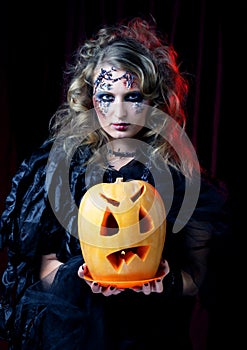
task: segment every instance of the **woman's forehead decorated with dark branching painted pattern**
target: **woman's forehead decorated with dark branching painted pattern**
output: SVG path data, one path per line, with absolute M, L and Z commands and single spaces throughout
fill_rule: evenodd
M 93 78 L 94 90 L 111 90 L 117 87 L 129 90 L 139 86 L 138 78 L 133 73 L 108 64 L 97 67 Z

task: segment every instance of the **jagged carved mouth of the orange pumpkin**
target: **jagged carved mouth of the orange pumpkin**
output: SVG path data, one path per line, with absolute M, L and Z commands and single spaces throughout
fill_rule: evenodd
M 113 268 L 116 271 L 119 271 L 124 263 L 128 265 L 135 258 L 135 256 L 138 256 L 141 260 L 144 261 L 149 252 L 149 249 L 150 246 L 148 245 L 121 249 L 109 254 L 107 256 L 107 259 Z

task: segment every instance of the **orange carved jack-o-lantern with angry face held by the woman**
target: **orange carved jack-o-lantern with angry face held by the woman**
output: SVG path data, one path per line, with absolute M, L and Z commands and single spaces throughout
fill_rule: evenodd
M 141 180 L 97 184 L 81 200 L 78 231 L 93 280 L 131 285 L 152 279 L 166 236 L 163 200 Z

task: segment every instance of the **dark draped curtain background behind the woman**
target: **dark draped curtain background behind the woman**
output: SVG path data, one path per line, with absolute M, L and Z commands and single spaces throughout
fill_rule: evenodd
M 140 15 L 153 16 L 173 43 L 190 76 L 187 133 L 201 164 L 227 184 L 231 198 L 233 241 L 219 255 L 224 271 L 218 276 L 210 350 L 230 344 L 237 349 L 241 336 L 246 10 L 245 0 L 2 1 L 0 8 L 1 211 L 20 162 L 48 135 L 48 121 L 64 99 L 66 63 L 85 38 L 104 23 Z M 3 268 L 6 252 L 0 259 Z M 204 350 L 200 310 L 199 316 L 195 350 Z

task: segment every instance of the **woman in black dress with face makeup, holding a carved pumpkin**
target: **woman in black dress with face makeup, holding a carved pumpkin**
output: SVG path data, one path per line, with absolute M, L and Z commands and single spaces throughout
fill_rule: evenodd
M 177 54 L 134 18 L 100 29 L 68 73 L 67 103 L 22 163 L 2 215 L 10 349 L 192 349 L 191 312 L 225 230 L 225 194 L 184 132 L 188 83 Z M 81 199 L 117 178 L 153 185 L 167 213 L 163 274 L 131 288 L 89 279 L 78 239 Z

